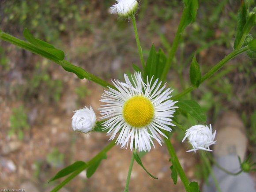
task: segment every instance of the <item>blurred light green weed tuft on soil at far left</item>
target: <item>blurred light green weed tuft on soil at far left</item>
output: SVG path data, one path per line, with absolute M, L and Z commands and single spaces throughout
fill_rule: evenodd
M 11 129 L 8 132 L 9 136 L 14 134 L 18 135 L 20 140 L 23 140 L 24 130 L 29 128 L 27 122 L 27 115 L 23 105 L 19 105 L 18 108 L 12 109 L 12 115 L 10 117 Z

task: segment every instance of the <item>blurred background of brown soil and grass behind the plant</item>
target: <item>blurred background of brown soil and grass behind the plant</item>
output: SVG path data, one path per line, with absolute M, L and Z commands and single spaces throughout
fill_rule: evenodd
M 254 0 L 249 2 L 255 5 Z M 24 39 L 23 29 L 28 28 L 36 38 L 62 49 L 71 63 L 108 82 L 122 81 L 124 72 L 133 73 L 132 64 L 140 66 L 140 60 L 132 23 L 109 13 L 114 3 L 1 0 L 0 29 Z M 205 74 L 233 50 L 239 6 L 239 0 L 199 0 L 196 22 L 186 28 L 168 75 L 173 94 L 190 85 L 189 66 L 195 52 Z M 139 1 L 136 19 L 145 58 L 152 43 L 167 53 L 182 10 L 181 0 Z M 248 153 L 253 153 L 254 161 L 255 82 L 255 60 L 243 54 L 184 97 L 199 102 L 213 127 L 219 114 L 237 111 L 247 128 Z M 0 189 L 49 192 L 60 181 L 47 182 L 60 169 L 75 161 L 87 162 L 105 147 L 109 137 L 104 133 L 85 135 L 71 128 L 74 110 L 92 105 L 98 114 L 102 91 L 99 85 L 80 80 L 57 64 L 0 41 Z M 185 127 L 198 124 L 188 115 L 177 114 L 177 120 Z M 183 136 L 184 132 L 175 129 L 173 145 L 189 180 L 202 185 L 209 171 L 198 154 L 185 152 L 189 146 L 181 143 Z M 131 151 L 118 146 L 107 155 L 89 180 L 82 172 L 61 191 L 123 191 Z M 131 192 L 184 192 L 181 181 L 174 185 L 170 178 L 166 147 L 156 145 L 142 161 L 158 180 L 135 163 Z

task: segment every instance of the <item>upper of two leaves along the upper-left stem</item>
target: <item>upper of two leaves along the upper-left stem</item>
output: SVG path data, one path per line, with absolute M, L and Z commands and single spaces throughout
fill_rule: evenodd
M 34 38 L 34 36 L 29 32 L 28 29 L 23 30 L 23 35 L 27 41 L 29 41 L 32 45 L 46 51 L 47 53 L 52 54 L 58 60 L 64 60 L 65 54 L 63 51 L 56 49 L 53 45 L 42 41 L 40 39 Z

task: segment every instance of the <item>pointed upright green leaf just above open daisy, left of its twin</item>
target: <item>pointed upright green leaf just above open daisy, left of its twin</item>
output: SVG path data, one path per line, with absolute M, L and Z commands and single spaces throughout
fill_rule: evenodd
M 156 51 L 155 51 L 155 47 L 154 44 L 152 45 L 151 49 L 150 49 L 150 53 L 149 56 L 147 58 L 147 64 L 146 64 L 146 68 L 145 68 L 146 74 L 145 76 L 149 77 L 149 79 L 151 79 L 151 77 L 153 75 L 155 75 L 156 72 Z

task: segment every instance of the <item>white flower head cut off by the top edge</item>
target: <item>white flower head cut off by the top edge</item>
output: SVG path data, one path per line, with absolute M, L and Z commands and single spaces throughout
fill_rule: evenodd
M 121 17 L 129 17 L 133 15 L 138 8 L 138 2 L 136 0 L 116 0 L 117 4 L 114 4 L 111 8 L 111 14 L 118 14 Z

